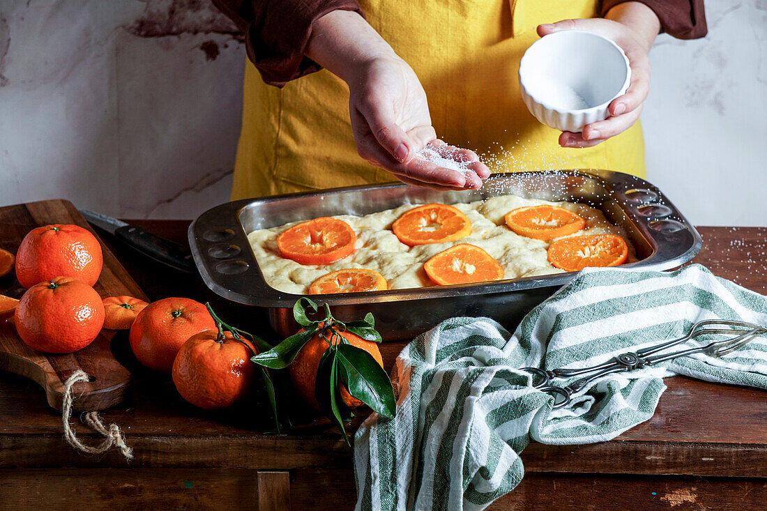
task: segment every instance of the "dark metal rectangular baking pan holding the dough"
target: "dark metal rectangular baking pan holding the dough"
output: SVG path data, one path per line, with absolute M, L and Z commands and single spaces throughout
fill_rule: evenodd
M 353 186 L 315 193 L 243 199 L 209 209 L 189 226 L 189 246 L 206 285 L 234 302 L 268 308 L 272 328 L 291 335 L 298 326 L 291 307 L 301 295 L 269 286 L 255 261 L 247 233 L 318 216 L 366 215 L 402 204 L 470 203 L 513 193 L 535 199 L 587 203 L 622 226 L 647 270 L 675 268 L 700 252 L 695 228 L 647 181 L 608 170 L 505 173 L 489 177 L 481 190 L 437 191 L 403 184 Z M 410 339 L 443 319 L 489 316 L 507 328 L 548 298 L 574 273 L 379 292 L 313 295 L 344 320 L 372 312 L 387 341 Z

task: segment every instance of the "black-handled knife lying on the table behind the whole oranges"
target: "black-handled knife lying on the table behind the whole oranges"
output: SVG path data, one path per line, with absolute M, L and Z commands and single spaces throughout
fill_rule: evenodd
M 178 243 L 155 236 L 139 226 L 132 226 L 111 216 L 87 209 L 81 209 L 80 213 L 89 223 L 111 232 L 117 239 L 127 243 L 128 246 L 133 247 L 143 255 L 182 272 L 197 272 L 192 253 Z

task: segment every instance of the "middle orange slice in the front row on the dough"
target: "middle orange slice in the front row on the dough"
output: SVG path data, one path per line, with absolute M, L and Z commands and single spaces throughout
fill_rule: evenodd
M 460 243 L 439 252 L 423 269 L 439 285 L 468 284 L 503 279 L 503 267 L 478 246 Z

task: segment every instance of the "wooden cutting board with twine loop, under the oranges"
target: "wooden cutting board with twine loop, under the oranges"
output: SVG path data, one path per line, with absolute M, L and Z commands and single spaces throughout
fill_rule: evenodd
M 50 223 L 74 223 L 94 233 L 72 203 L 67 200 L 44 200 L 0 208 L 0 247 L 16 253 L 21 239 L 38 226 Z M 99 240 L 100 241 L 100 240 Z M 114 254 L 101 242 L 104 269 L 94 288 L 102 298 L 130 295 L 146 300 L 137 283 L 128 275 Z M 0 279 L 0 294 L 21 298 L 24 288 L 13 272 Z M 61 410 L 64 381 L 81 369 L 91 381 L 75 384 L 76 411 L 104 410 L 125 399 L 131 391 L 131 375 L 114 358 L 110 349 L 117 332 L 102 330 L 86 348 L 71 354 L 46 354 L 29 348 L 18 337 L 13 325 L 0 325 L 0 369 L 21 374 L 38 382 L 48 397 L 48 404 Z

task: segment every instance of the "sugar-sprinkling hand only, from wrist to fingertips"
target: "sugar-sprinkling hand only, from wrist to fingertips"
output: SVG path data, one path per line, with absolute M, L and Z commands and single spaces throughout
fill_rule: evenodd
M 477 189 L 490 175 L 476 153 L 436 138 L 426 92 L 400 58 L 374 58 L 347 77 L 349 115 L 360 157 L 388 170 L 403 183 L 453 190 Z M 419 157 L 431 144 L 441 157 L 465 163 L 466 172 Z

